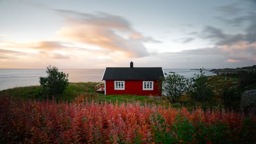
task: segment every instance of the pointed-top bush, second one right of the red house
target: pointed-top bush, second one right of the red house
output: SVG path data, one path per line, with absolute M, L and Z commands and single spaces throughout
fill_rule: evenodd
M 209 100 L 212 97 L 212 91 L 207 87 L 207 78 L 204 75 L 203 69 L 200 68 L 200 74 L 190 79 L 190 86 L 187 94 L 196 102 Z

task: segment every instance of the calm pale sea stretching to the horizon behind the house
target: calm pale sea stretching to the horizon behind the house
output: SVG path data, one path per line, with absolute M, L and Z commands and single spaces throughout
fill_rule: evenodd
M 69 74 L 68 81 L 77 82 L 101 82 L 102 75 L 105 69 L 59 69 L 59 71 Z M 216 75 L 204 70 L 205 76 Z M 164 69 L 164 73 L 171 75 L 183 75 L 186 78 L 191 78 L 195 74 L 199 74 L 199 70 L 194 69 Z M 14 87 L 24 87 L 32 85 L 40 85 L 39 77 L 45 77 L 46 69 L 0 69 L 0 91 Z M 166 75 L 165 75 L 166 76 Z

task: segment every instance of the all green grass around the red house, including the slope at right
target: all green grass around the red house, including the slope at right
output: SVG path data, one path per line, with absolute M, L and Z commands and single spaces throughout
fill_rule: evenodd
M 94 92 L 94 87 L 99 83 L 70 83 L 65 91 L 61 95 L 55 96 L 61 97 L 61 100 L 73 101 L 78 95 L 84 95 L 83 98 L 90 96 L 87 99 L 94 100 L 97 102 L 107 101 L 118 104 L 121 103 L 139 103 L 140 105 L 151 104 L 151 105 L 160 105 L 160 106 L 169 106 L 173 108 L 182 108 L 185 107 L 188 110 L 192 111 L 196 107 L 203 108 L 204 110 L 210 108 L 223 108 L 221 103 L 221 92 L 224 87 L 237 87 L 237 78 L 235 77 L 225 77 L 225 76 L 208 76 L 208 86 L 211 87 L 214 92 L 214 96 L 212 100 L 204 101 L 201 103 L 195 103 L 195 101 L 191 100 L 187 95 L 183 95 L 180 97 L 178 103 L 170 104 L 166 97 L 158 97 L 158 96 L 137 96 L 137 95 L 104 95 L 104 94 L 88 94 L 90 92 Z M 255 87 L 255 85 L 251 85 L 251 87 Z M 85 94 L 86 93 L 86 94 Z M 0 91 L 0 95 L 13 96 L 15 98 L 21 97 L 22 99 L 39 99 L 42 95 L 40 86 L 28 86 L 28 87 L 18 87 L 13 89 L 7 89 Z M 85 96 L 86 95 L 86 96 Z

